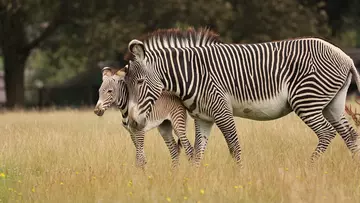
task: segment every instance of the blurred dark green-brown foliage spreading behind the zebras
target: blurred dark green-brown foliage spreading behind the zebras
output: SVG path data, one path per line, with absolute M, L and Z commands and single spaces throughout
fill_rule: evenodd
M 359 31 L 331 38 L 323 0 L 89 0 L 65 1 L 62 18 L 69 21 L 31 55 L 33 79 L 57 84 L 96 68 L 99 60 L 121 60 L 128 42 L 158 28 L 210 27 L 222 40 L 254 43 L 301 36 L 319 36 L 342 46 L 359 45 Z M 331 1 L 330 1 L 331 3 Z M 332 4 L 335 5 L 335 4 Z M 24 4 L 28 38 L 33 39 L 62 8 L 58 0 Z M 356 10 L 346 19 L 354 21 Z M 45 24 L 44 24 L 45 22 Z

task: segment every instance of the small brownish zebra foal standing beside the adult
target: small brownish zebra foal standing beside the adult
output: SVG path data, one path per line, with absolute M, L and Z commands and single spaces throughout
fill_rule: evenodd
M 143 168 L 146 164 L 145 132 L 155 127 L 170 151 L 173 168 L 179 164 L 181 146 L 184 147 L 189 161 L 192 160 L 193 147 L 186 137 L 186 109 L 175 95 L 163 92 L 154 105 L 152 113 L 149 114 L 147 122 L 137 128 L 131 128 L 128 119 L 128 89 L 124 81 L 123 69 L 105 67 L 102 69 L 102 84 L 99 88 L 99 99 L 94 113 L 102 116 L 111 105 L 116 105 L 122 114 L 122 125 L 130 133 L 136 148 L 136 165 L 138 167 Z M 179 139 L 178 143 L 174 140 L 173 130 Z

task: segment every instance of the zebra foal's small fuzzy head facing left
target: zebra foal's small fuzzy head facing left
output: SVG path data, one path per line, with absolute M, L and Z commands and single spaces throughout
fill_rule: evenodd
M 123 70 L 104 67 L 102 69 L 102 84 L 99 88 L 99 99 L 95 106 L 94 113 L 102 116 L 104 112 L 112 105 L 124 107 L 127 104 L 126 84 L 124 82 Z

